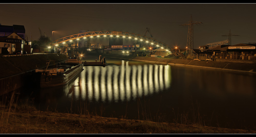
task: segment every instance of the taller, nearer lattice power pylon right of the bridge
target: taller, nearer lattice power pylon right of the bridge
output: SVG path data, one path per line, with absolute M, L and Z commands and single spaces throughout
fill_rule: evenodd
M 187 50 L 186 50 L 186 56 L 194 56 L 192 53 L 194 52 L 194 40 L 193 40 L 193 25 L 194 24 L 201 24 L 202 22 L 193 21 L 192 15 L 191 19 L 187 24 L 183 24 L 181 26 L 188 26 L 188 39 L 187 39 Z

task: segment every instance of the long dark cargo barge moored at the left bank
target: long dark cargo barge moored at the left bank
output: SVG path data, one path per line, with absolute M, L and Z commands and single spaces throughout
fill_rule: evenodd
M 58 63 L 42 69 L 36 69 L 40 75 L 40 87 L 55 87 L 68 83 L 72 78 L 83 71 L 84 62 L 78 60 L 78 57 L 69 57 L 64 63 Z

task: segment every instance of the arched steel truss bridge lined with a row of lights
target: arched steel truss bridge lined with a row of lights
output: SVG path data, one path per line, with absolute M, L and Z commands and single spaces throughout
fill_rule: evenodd
M 78 34 L 70 35 L 70 36 L 63 37 L 63 38 L 57 39 L 55 41 L 52 41 L 52 43 L 50 43 L 49 45 L 64 45 L 67 41 L 79 40 L 81 38 L 88 38 L 88 37 L 113 37 L 113 36 L 144 41 L 147 43 L 151 43 L 152 45 L 154 45 L 156 47 L 165 49 L 168 52 L 172 52 L 176 56 L 184 56 L 184 54 L 177 52 L 172 47 L 170 47 L 169 45 L 167 45 L 161 41 L 158 41 L 151 37 L 143 36 L 140 34 L 123 32 L 123 31 L 91 31 L 91 32 L 78 33 Z

